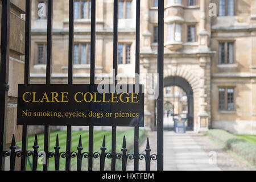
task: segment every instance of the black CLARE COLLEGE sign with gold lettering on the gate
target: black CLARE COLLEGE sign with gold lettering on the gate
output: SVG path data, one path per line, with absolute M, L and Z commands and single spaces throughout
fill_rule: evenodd
M 127 92 L 119 91 L 124 89 Z M 17 125 L 144 126 L 143 89 L 117 85 L 111 92 L 113 85 L 19 85 Z

